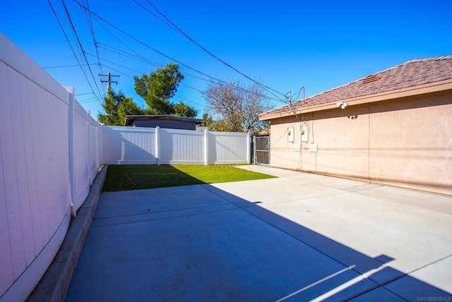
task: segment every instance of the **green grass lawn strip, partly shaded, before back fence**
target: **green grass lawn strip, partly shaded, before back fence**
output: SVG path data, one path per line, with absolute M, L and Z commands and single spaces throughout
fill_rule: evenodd
M 246 171 L 227 164 L 213 166 L 110 164 L 102 191 L 114 192 L 273 178 L 275 176 Z

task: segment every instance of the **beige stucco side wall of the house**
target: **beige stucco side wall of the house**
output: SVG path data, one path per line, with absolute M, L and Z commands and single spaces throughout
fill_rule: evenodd
M 273 167 L 452 195 L 451 90 L 272 119 L 270 140 Z

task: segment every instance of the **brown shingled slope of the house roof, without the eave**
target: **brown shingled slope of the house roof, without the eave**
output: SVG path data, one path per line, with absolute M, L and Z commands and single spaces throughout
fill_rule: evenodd
M 426 59 L 415 59 L 404 64 L 380 71 L 355 82 L 333 88 L 319 95 L 279 107 L 266 113 L 265 116 L 295 112 L 295 110 L 313 107 L 319 104 L 340 102 L 354 97 L 376 95 L 381 92 L 400 90 L 442 80 L 452 79 L 452 56 L 436 56 Z

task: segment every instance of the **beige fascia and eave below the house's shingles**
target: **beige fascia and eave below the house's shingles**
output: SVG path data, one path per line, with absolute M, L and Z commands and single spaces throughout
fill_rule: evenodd
M 260 121 L 268 121 L 270 119 L 279 119 L 287 116 L 294 116 L 295 114 L 304 114 L 313 111 L 322 111 L 337 108 L 336 102 L 347 102 L 349 106 L 358 104 L 367 104 L 371 102 L 381 102 L 388 99 L 398 99 L 400 97 L 412 97 L 415 95 L 423 95 L 432 92 L 439 92 L 444 90 L 452 90 L 452 79 L 442 80 L 439 82 L 428 83 L 424 85 L 417 85 L 398 90 L 391 90 L 387 92 L 380 92 L 373 95 L 364 95 L 362 97 L 352 97 L 349 99 L 335 99 L 333 102 L 324 104 L 317 104 L 309 107 L 293 108 L 292 110 L 259 114 Z

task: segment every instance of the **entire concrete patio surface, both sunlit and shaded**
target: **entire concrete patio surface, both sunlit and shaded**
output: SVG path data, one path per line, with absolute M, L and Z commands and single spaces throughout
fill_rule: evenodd
M 102 193 L 66 301 L 451 301 L 450 196 L 242 168 Z

